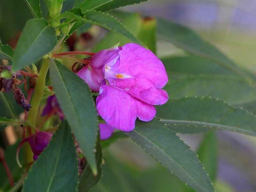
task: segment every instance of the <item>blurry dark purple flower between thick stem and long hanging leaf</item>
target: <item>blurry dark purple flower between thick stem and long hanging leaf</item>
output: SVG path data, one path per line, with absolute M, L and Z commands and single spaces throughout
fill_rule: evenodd
M 60 108 L 60 104 L 55 95 L 48 97 L 46 105 L 44 107 L 42 116 L 57 115 L 61 120 L 64 118 L 64 114 Z

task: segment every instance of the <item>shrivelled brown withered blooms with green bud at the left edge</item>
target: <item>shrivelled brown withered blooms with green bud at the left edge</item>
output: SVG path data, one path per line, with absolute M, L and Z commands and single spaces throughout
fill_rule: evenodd
M 1 92 L 10 92 L 12 90 L 14 94 L 14 98 L 16 102 L 26 111 L 29 111 L 29 109 L 32 107 L 28 100 L 25 98 L 23 92 L 21 89 L 17 86 L 22 83 L 26 84 L 26 78 L 23 75 L 26 72 L 23 71 L 17 71 L 14 74 L 11 74 L 11 66 L 0 66 L 0 91 Z M 24 79 L 20 80 L 19 77 L 24 77 Z

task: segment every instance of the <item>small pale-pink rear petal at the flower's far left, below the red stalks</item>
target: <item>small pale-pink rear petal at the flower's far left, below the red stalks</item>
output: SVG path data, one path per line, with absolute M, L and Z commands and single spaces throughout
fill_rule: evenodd
M 85 83 L 88 84 L 89 88 L 92 91 L 95 92 L 99 92 L 100 90 L 100 83 L 96 80 L 97 77 L 93 76 L 94 75 L 92 73 L 91 70 L 89 70 L 88 66 L 85 66 L 84 68 L 80 69 L 77 73 L 77 76 L 79 76 L 81 79 L 84 80 Z M 100 76 L 100 74 L 97 73 L 98 76 Z M 102 73 L 102 77 L 103 77 L 103 73 Z

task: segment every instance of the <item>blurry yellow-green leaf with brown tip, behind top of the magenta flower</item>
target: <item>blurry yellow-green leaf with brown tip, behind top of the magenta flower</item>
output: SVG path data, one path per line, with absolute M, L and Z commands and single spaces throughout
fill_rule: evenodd
M 156 19 L 144 18 L 142 20 L 138 39 L 156 54 Z

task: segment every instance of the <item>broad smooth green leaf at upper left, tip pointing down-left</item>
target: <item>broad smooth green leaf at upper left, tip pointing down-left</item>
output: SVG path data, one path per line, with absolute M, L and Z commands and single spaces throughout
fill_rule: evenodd
M 13 67 L 17 71 L 40 60 L 57 44 L 55 30 L 44 19 L 27 22 L 14 50 Z

